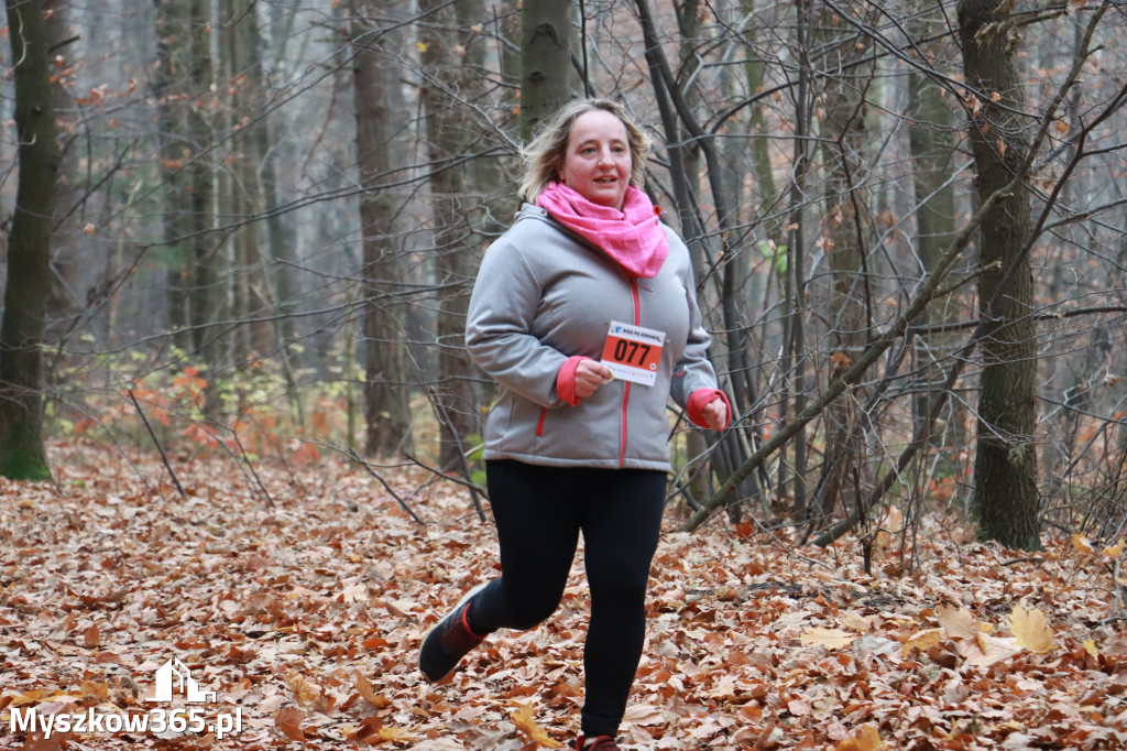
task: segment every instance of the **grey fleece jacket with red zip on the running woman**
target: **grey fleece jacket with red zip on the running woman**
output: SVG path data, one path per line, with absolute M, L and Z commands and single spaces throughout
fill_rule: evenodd
M 664 226 L 663 226 L 664 227 Z M 672 229 L 654 279 L 630 279 L 547 211 L 524 204 L 485 255 L 467 320 L 470 357 L 502 387 L 486 459 L 669 471 L 668 397 L 716 388 L 689 249 Z M 615 379 L 570 406 L 556 391 L 573 355 L 598 360 L 612 320 L 664 332 L 654 386 Z

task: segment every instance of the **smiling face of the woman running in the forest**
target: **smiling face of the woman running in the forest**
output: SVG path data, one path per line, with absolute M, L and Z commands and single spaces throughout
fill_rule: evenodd
M 560 167 L 564 185 L 592 203 L 621 210 L 632 167 L 621 120 L 605 109 L 576 117 Z

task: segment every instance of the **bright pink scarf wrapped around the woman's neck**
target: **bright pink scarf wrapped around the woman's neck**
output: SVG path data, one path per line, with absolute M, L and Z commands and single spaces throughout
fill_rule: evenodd
M 552 182 L 536 198 L 558 222 L 594 242 L 631 276 L 651 279 L 669 255 L 662 210 L 638 187 L 627 188 L 622 211 L 602 206 Z

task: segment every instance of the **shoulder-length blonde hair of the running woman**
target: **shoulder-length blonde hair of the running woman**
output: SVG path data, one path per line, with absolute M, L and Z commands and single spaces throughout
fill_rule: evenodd
M 627 129 L 630 145 L 630 185 L 642 187 L 646 180 L 646 156 L 649 153 L 650 138 L 638 127 L 633 118 L 616 101 L 610 99 L 573 99 L 548 121 L 536 136 L 521 151 L 524 177 L 521 178 L 518 195 L 522 201 L 535 203 L 548 184 L 559 177 L 571 127 L 579 115 L 602 109 L 618 117 Z

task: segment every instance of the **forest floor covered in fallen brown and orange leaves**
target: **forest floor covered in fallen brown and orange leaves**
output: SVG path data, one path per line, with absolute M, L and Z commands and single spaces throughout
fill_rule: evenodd
M 328 457 L 174 457 L 181 497 L 156 454 L 50 451 L 54 483 L 0 480 L 0 748 L 518 751 L 577 732 L 580 564 L 549 622 L 490 637 L 443 683 L 418 674 L 426 628 L 496 574 L 464 489 L 380 470 L 420 527 Z M 1009 551 L 934 516 L 914 571 L 878 549 L 866 575 L 855 538 L 686 534 L 676 515 L 623 748 L 1127 748 L 1121 550 Z M 156 700 L 174 659 L 215 696 Z M 59 732 L 79 716 L 86 732 Z

